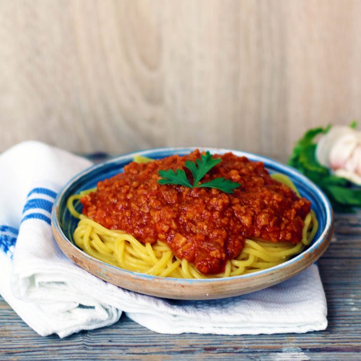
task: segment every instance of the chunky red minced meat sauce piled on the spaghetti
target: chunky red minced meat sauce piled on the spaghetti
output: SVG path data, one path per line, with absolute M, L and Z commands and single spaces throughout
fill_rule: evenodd
M 201 182 L 224 177 L 241 183 L 232 194 L 158 183 L 158 171 L 169 169 L 184 169 L 192 183 L 184 163 L 200 155 L 196 150 L 147 164 L 129 163 L 123 173 L 98 182 L 97 191 L 81 198 L 83 214 L 143 243 L 164 241 L 203 274 L 223 271 L 226 261 L 241 253 L 245 238 L 301 241 L 310 202 L 273 180 L 262 162 L 233 153 L 213 155 L 222 162 Z

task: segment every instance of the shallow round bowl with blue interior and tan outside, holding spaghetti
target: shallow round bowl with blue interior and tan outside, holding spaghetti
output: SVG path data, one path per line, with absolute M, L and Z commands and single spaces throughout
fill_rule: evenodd
M 93 188 L 98 181 L 122 172 L 123 167 L 131 162 L 135 155 L 160 159 L 174 154 L 189 154 L 194 149 L 196 148 L 159 148 L 130 153 L 97 164 L 78 174 L 62 188 L 53 207 L 52 228 L 60 249 L 78 266 L 114 285 L 145 295 L 180 300 L 219 299 L 258 291 L 300 273 L 322 255 L 331 241 L 333 213 L 327 197 L 314 183 L 295 169 L 266 157 L 236 150 L 204 147 L 198 149 L 209 150 L 213 154 L 231 151 L 237 156 L 263 162 L 270 173 L 287 175 L 295 183 L 301 196 L 311 201 L 312 209 L 319 222 L 319 228 L 312 243 L 299 255 L 275 267 L 241 276 L 202 280 L 163 278 L 126 271 L 89 256 L 75 245 L 72 235 L 78 220 L 72 217 L 66 208 L 66 200 L 70 195 Z M 78 203 L 76 208 L 81 211 L 81 204 Z

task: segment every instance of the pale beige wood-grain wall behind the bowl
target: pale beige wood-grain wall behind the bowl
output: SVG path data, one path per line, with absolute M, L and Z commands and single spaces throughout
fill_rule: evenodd
M 361 0 L 0 0 L 0 151 L 210 145 L 285 160 L 361 121 Z

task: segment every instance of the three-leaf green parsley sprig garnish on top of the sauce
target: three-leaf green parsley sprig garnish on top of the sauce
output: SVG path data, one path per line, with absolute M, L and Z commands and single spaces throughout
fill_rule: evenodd
M 197 159 L 196 162 L 186 161 L 185 167 L 189 169 L 190 173 L 193 176 L 193 185 L 189 182 L 184 170 L 177 169 L 174 172 L 172 169 L 169 171 L 159 171 L 158 174 L 163 177 L 158 181 L 160 184 L 180 184 L 189 188 L 194 187 L 208 187 L 208 188 L 217 188 L 222 190 L 225 193 L 233 193 L 235 188 L 241 186 L 240 183 L 236 183 L 221 178 L 214 178 L 211 181 L 199 183 L 202 178 L 218 163 L 222 162 L 222 159 L 212 158 L 212 155 L 207 151 L 206 154 L 202 154 L 201 159 Z

